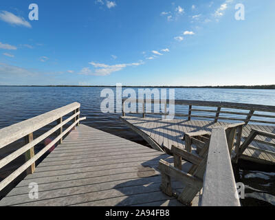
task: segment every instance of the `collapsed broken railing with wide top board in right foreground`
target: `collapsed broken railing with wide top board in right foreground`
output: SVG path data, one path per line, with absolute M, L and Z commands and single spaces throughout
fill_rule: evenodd
M 159 161 L 162 191 L 166 195 L 175 196 L 181 203 L 190 205 L 203 188 L 202 206 L 239 206 L 230 152 L 234 139 L 238 142 L 241 138 L 238 134 L 243 124 L 245 123 L 219 126 L 212 129 L 212 133 L 186 133 L 185 139 L 189 140 L 186 148 L 171 148 L 174 166 L 163 159 Z M 192 153 L 191 144 L 197 146 L 197 155 Z M 192 164 L 187 172 L 181 170 L 181 159 Z M 179 195 L 173 192 L 171 178 L 184 184 L 184 190 Z

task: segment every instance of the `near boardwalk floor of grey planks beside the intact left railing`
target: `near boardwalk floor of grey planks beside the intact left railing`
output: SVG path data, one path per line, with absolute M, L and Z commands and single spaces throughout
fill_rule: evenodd
M 154 138 L 162 139 L 159 133 Z M 182 206 L 159 189 L 159 159 L 173 162 L 165 153 L 80 124 L 0 206 Z M 29 198 L 33 182 L 38 199 Z M 179 191 L 184 187 L 173 185 Z M 199 195 L 193 205 L 198 201 Z

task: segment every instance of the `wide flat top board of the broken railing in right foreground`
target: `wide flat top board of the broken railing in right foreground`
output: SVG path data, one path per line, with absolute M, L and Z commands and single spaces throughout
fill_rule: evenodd
M 212 129 L 201 206 L 240 206 L 225 129 Z

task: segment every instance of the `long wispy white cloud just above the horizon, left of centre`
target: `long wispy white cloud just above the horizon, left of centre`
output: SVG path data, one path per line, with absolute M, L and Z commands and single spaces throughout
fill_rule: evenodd
M 90 62 L 89 64 L 95 68 L 94 71 L 92 71 L 89 67 L 84 67 L 83 69 L 80 70 L 78 74 L 90 75 L 90 76 L 108 76 L 113 72 L 118 72 L 126 67 L 142 65 L 144 64 L 144 62 L 140 61 L 137 63 L 122 63 L 122 64 L 116 64 L 116 65 L 107 65 L 104 63 L 95 63 L 95 62 Z

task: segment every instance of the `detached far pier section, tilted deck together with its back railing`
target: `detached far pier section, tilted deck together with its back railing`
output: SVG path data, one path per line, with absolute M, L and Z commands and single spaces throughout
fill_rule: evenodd
M 212 129 L 217 126 L 228 126 L 232 124 L 231 121 L 244 122 L 243 130 L 241 132 L 241 144 L 245 144 L 244 151 L 239 156 L 241 159 L 247 159 L 252 162 L 261 164 L 275 164 L 275 124 L 272 120 L 254 120 L 256 118 L 275 118 L 274 106 L 263 106 L 259 104 L 241 104 L 232 102 L 208 102 L 208 101 L 192 101 L 192 100 L 175 100 L 175 104 L 187 105 L 188 112 L 175 113 L 174 116 L 180 116 L 182 119 L 173 118 L 169 120 L 166 118 L 167 112 L 163 113 L 151 113 L 146 112 L 146 104 L 143 104 L 142 116 L 140 115 L 126 115 L 125 105 L 131 102 L 144 102 L 150 103 L 151 100 L 126 100 L 124 99 L 124 112 L 120 117 L 122 122 L 129 126 L 133 131 L 141 135 L 148 144 L 155 148 L 157 151 L 164 151 L 171 154 L 171 146 L 179 146 L 185 148 L 184 135 L 186 133 L 194 133 L 199 131 L 208 131 L 211 133 Z M 161 100 L 164 104 L 164 109 L 167 109 L 169 100 Z M 204 107 L 201 109 L 199 107 Z M 215 109 L 209 109 L 215 108 Z M 208 109 L 206 109 L 208 108 Z M 225 109 L 225 110 L 223 110 Z M 228 109 L 233 109 L 230 111 Z M 238 111 L 234 111 L 238 109 Z M 241 110 L 241 111 L 240 111 Z M 246 111 L 246 112 L 244 112 Z M 257 113 L 259 111 L 260 113 Z M 212 115 L 206 114 L 194 114 L 199 113 L 212 113 Z M 262 113 L 264 112 L 264 113 Z M 130 112 L 131 113 L 131 112 Z M 228 113 L 234 115 L 234 118 L 222 117 L 222 113 Z M 133 114 L 133 113 L 132 113 Z M 136 114 L 136 113 L 135 113 Z M 155 116 L 155 117 L 152 117 Z M 156 115 L 164 116 L 164 118 L 157 118 Z M 243 115 L 244 118 L 238 116 Z M 186 119 L 185 119 L 185 118 Z M 205 120 L 200 120 L 206 118 Z M 213 119 L 213 120 L 209 120 Z M 250 124 L 250 122 L 254 124 Z M 252 135 L 254 133 L 256 135 Z M 251 140 L 248 140 L 251 139 Z M 245 142 L 246 140 L 246 142 Z M 249 144 L 248 144 L 249 142 Z M 235 152 L 232 152 L 234 157 Z

